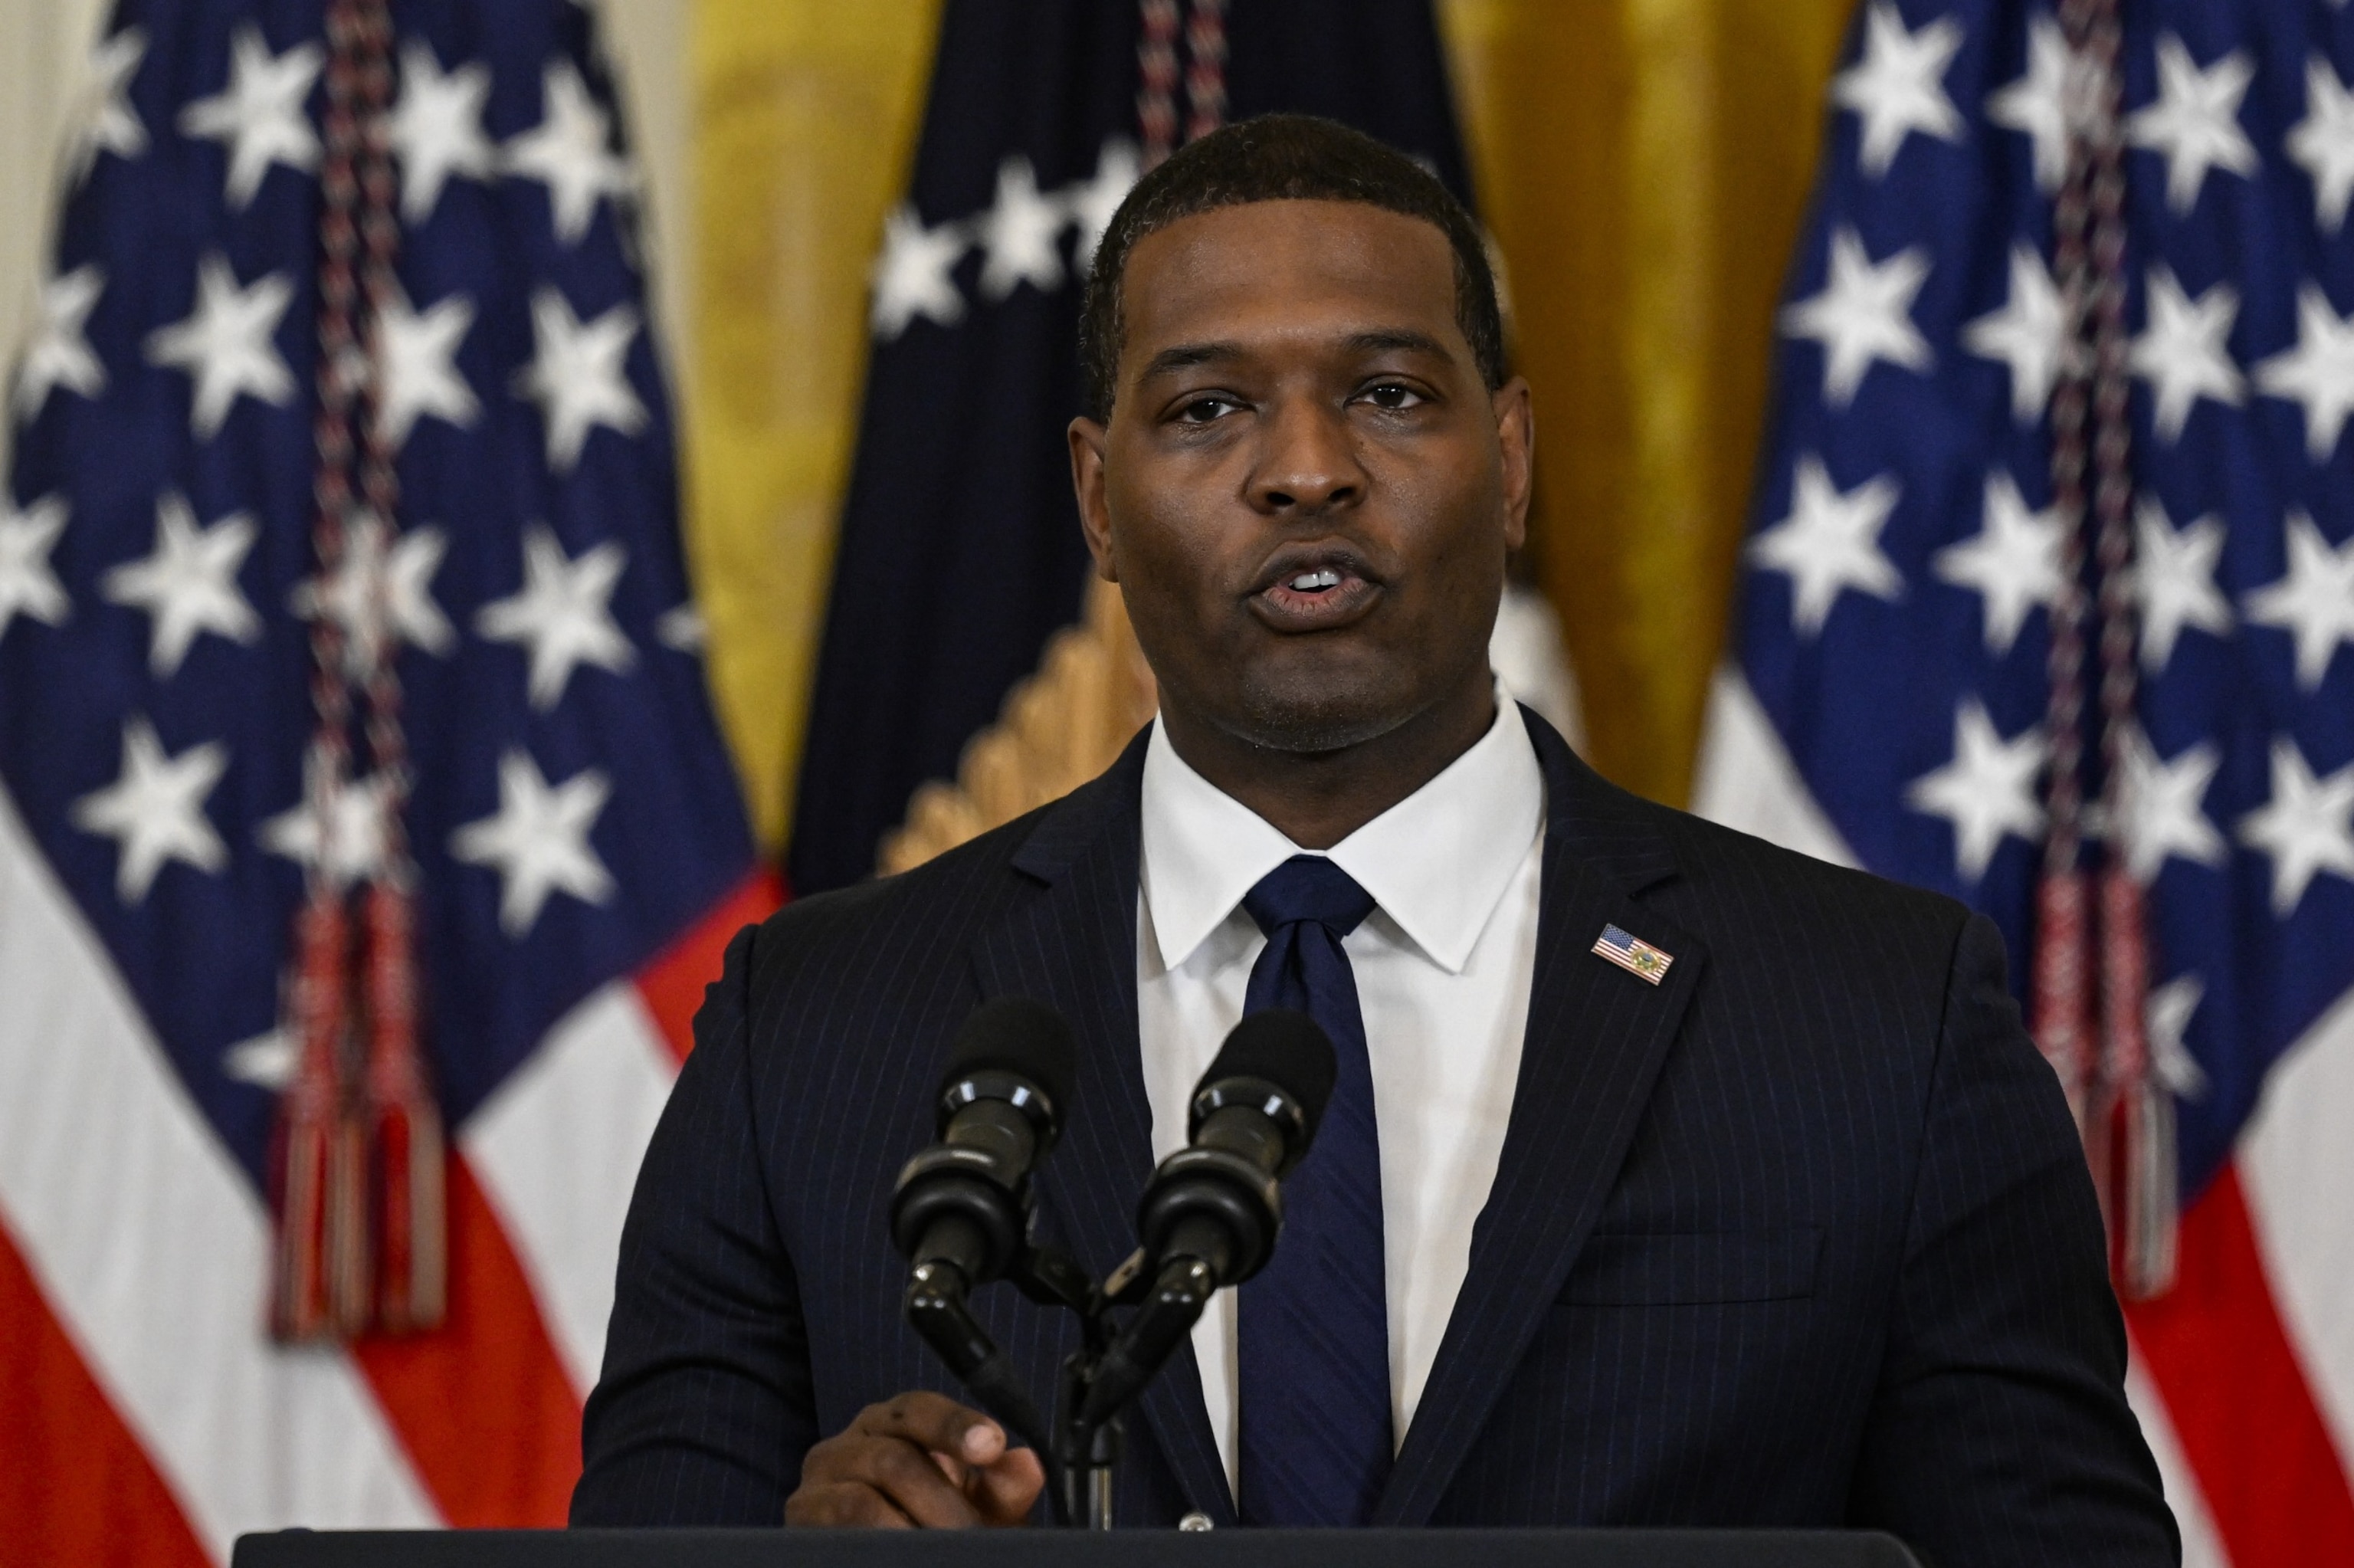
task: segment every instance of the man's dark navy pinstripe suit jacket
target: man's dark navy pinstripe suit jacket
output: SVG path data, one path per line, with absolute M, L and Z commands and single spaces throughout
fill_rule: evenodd
M 1377 1523 L 1871 1523 L 1937 1563 L 2170 1563 L 2057 1081 L 1961 906 L 1622 793 L 1535 716 L 1544 902 L 1495 1191 Z M 807 1448 L 949 1387 L 885 1234 L 986 996 L 1080 1038 L 1040 1229 L 1104 1274 L 1151 1170 L 1144 746 L 746 930 L 645 1156 L 574 1523 L 772 1523 Z M 1596 958 L 1617 923 L 1664 984 Z M 1073 1335 L 979 1302 L 1040 1403 Z M 1233 1521 L 1191 1349 L 1121 1516 Z

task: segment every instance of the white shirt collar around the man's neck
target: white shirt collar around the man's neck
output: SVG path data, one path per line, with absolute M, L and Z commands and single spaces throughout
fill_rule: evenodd
M 1153 725 L 1144 751 L 1144 902 L 1163 968 L 1177 968 L 1262 876 L 1304 850 L 1177 756 Z M 1544 770 L 1502 683 L 1495 723 L 1429 784 L 1332 845 L 1431 963 L 1462 972 L 1544 824 Z

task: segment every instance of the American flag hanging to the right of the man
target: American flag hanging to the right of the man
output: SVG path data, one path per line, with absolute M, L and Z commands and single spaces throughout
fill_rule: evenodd
M 2354 1561 L 2349 195 L 2345 0 L 1867 0 L 1700 779 L 2003 925 L 2241 1568 Z

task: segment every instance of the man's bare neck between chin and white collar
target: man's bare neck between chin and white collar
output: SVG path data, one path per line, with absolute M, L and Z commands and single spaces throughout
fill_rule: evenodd
M 1464 692 L 1339 751 L 1259 746 L 1168 702 L 1161 723 L 1193 772 L 1302 850 L 1330 850 L 1478 744 L 1495 723 L 1495 680 L 1481 669 Z

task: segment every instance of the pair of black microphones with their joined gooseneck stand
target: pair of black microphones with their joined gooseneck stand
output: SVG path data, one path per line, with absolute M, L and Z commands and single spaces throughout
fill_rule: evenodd
M 1144 1245 L 1097 1285 L 1066 1253 L 1033 1241 L 1031 1170 L 1059 1132 L 1069 1048 L 1069 1029 L 1036 1003 L 975 1012 L 942 1083 L 939 1142 L 899 1172 L 892 1236 L 913 1264 L 909 1326 L 1045 1460 L 1055 1523 L 1109 1530 L 1123 1413 L 1210 1297 L 1266 1264 L 1283 1229 L 1281 1182 L 1306 1156 L 1335 1069 L 1332 1043 L 1304 1012 L 1236 1024 L 1193 1092 L 1189 1147 L 1144 1189 Z M 1078 1316 L 1080 1347 L 1062 1363 L 1052 1429 L 972 1316 L 970 1293 L 996 1278 Z

